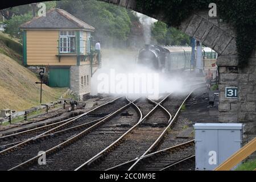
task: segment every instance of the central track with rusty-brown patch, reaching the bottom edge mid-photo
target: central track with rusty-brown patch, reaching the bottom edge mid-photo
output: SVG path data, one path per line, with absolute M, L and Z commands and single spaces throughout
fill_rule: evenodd
M 144 115 L 138 125 L 117 141 L 116 145 L 118 146 L 102 151 L 101 154 L 94 156 L 76 170 L 105 170 L 110 166 L 117 166 L 143 155 L 172 119 L 172 113 L 162 106 L 169 97 L 171 94 L 168 94 L 159 103 L 150 100 L 155 107 Z

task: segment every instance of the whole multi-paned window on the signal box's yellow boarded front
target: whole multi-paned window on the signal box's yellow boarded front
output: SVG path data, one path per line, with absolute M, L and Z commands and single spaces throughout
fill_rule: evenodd
M 60 31 L 60 53 L 76 52 L 75 31 Z

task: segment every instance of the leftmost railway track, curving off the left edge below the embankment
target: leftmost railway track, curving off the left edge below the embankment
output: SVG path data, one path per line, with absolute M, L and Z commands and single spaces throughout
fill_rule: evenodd
M 114 100 L 107 102 L 106 104 L 100 105 L 95 109 L 92 109 L 77 117 L 72 117 L 69 119 L 65 119 L 64 121 L 0 137 L 0 154 L 2 153 L 1 151 L 5 150 L 6 148 L 25 142 L 26 140 L 36 137 L 38 135 L 53 133 L 58 130 L 63 130 L 67 127 L 78 126 L 81 123 L 90 122 L 97 118 L 104 117 L 104 115 L 110 114 L 114 111 L 114 109 L 116 109 L 116 107 L 109 106 L 113 105 L 113 103 L 117 102 L 120 99 L 121 97 L 115 98 Z M 84 121 L 84 119 L 86 121 Z

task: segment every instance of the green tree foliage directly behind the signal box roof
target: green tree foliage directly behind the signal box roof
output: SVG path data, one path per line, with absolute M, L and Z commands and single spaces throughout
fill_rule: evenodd
M 58 1 L 57 7 L 64 9 L 96 28 L 98 39 L 127 40 L 131 27 L 131 13 L 123 7 L 99 1 Z

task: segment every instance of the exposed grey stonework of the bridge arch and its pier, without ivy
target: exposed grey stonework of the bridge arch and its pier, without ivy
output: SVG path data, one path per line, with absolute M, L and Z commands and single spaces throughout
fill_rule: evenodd
M 137 11 L 136 0 L 102 0 Z M 143 10 L 140 11 L 143 13 Z M 145 14 L 145 13 L 144 13 Z M 168 12 L 159 15 L 145 14 L 162 20 Z M 208 11 L 194 12 L 181 22 L 178 27 L 185 34 L 192 36 L 218 53 L 217 65 L 219 81 L 219 121 L 245 123 L 245 134 L 256 134 L 256 51 L 250 57 L 245 68 L 239 68 L 234 27 L 220 18 L 210 18 Z M 225 88 L 237 87 L 238 98 L 226 98 Z M 210 121 L 209 121 L 210 122 Z M 255 136 L 254 136 L 255 137 Z M 250 139 L 250 138 L 248 138 Z

